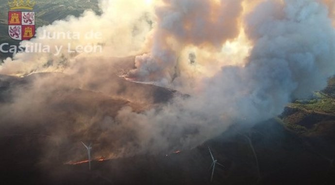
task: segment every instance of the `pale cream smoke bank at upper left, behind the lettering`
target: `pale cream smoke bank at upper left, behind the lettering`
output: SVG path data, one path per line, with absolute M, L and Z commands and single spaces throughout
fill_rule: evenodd
M 24 76 L 33 72 L 63 72 L 76 57 L 128 57 L 143 53 L 153 16 L 152 8 L 143 1 L 103 0 L 100 3 L 102 15 L 87 10 L 80 17 L 68 16 L 37 28 L 36 38 L 21 42 L 21 46 L 41 44 L 50 46 L 50 52 L 17 53 L 13 59 L 4 61 L 0 73 Z M 91 32 L 100 33 L 101 38 L 89 36 Z M 101 53 L 69 53 L 68 45 L 70 50 L 87 45 L 103 46 L 103 49 Z M 59 54 L 55 46 L 63 48 Z

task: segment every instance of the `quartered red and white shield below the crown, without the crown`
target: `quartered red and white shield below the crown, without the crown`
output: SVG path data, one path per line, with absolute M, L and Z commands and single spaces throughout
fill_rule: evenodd
M 8 12 L 8 34 L 15 40 L 29 40 L 35 35 L 35 12 Z

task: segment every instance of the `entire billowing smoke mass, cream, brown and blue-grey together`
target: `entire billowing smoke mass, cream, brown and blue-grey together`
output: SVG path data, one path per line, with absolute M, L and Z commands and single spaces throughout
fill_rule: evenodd
M 112 104 L 102 109 L 93 104 L 95 107 L 87 108 L 90 111 L 84 116 L 71 114 L 67 127 L 57 126 L 61 125 L 58 114 L 48 117 L 55 123 L 54 137 L 67 142 L 66 136 L 74 133 L 74 138 L 94 139 L 95 154 L 109 157 L 160 153 L 197 146 L 233 123 L 254 124 L 277 116 L 290 101 L 323 89 L 328 77 L 335 74 L 335 30 L 330 12 L 317 0 L 163 0 L 157 2 L 156 17 L 145 3 L 135 8 L 137 1 L 127 2 L 134 6 L 126 6 L 123 1 L 103 1 L 101 16 L 86 13 L 38 30 L 57 31 L 72 24 L 96 22 L 107 35 L 104 41 L 96 41 L 106 44 L 101 56 L 64 54 L 67 65 L 61 70 L 57 64 L 60 59 L 50 56 L 20 53 L 7 59 L 0 68 L 2 74 L 62 71 L 67 77 L 38 77 L 32 79 L 31 88 L 13 90 L 13 101 L 1 107 L 3 115 L 12 114 L 1 117 L 1 123 L 11 122 L 15 113 L 21 115 L 15 117 L 15 122 L 20 123 L 28 114 L 34 115 L 26 111 L 31 107 L 43 110 L 36 119 L 32 116 L 31 122 L 43 120 L 44 114 L 55 111 L 50 105 L 59 105 L 57 101 L 76 102 L 76 98 L 68 96 L 72 92 L 69 90 L 78 88 L 102 93 L 106 99 L 121 99 L 113 102 L 119 105 L 113 110 L 117 113 L 107 113 Z M 122 6 L 134 9 L 134 15 L 126 16 L 117 28 L 109 28 L 109 24 L 117 22 L 112 17 L 121 12 Z M 138 34 L 133 35 L 134 28 L 140 30 Z M 85 29 L 88 28 L 82 28 Z M 119 37 L 120 42 L 114 40 Z M 40 40 L 37 37 L 30 42 Z M 234 49 L 244 50 L 244 58 L 236 57 L 238 52 L 226 55 Z M 208 57 L 211 51 L 213 55 Z M 137 56 L 116 58 L 128 54 Z M 54 62 L 51 67 L 44 65 L 48 60 Z M 195 64 L 189 64 L 190 60 L 195 60 Z M 217 65 L 199 65 L 211 66 L 211 62 Z M 28 71 L 22 73 L 24 70 Z M 162 104 L 152 98 L 158 87 L 143 87 L 118 77 L 127 72 L 127 77 L 135 81 L 153 81 L 189 96 L 174 93 L 174 98 Z M 183 77 L 189 73 L 196 75 Z M 59 93 L 61 89 L 63 93 Z M 89 102 L 89 96 L 83 95 L 79 102 Z M 80 109 L 89 104 L 75 105 Z M 57 107 L 57 113 L 64 107 Z

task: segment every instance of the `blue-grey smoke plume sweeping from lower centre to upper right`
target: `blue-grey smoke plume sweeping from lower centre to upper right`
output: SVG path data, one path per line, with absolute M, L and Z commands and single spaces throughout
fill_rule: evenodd
M 146 114 L 145 122 L 151 126 L 161 123 L 155 133 L 170 132 L 149 138 L 168 146 L 181 134 L 186 138 L 177 141 L 180 144 L 199 144 L 223 132 L 232 121 L 253 124 L 277 116 L 290 101 L 325 88 L 335 74 L 335 30 L 327 8 L 318 1 L 262 2 L 245 17 L 244 29 L 253 43 L 246 66 L 223 67 L 203 80 L 200 93 L 157 114 Z M 151 62 L 154 69 L 161 64 L 150 60 L 144 65 Z

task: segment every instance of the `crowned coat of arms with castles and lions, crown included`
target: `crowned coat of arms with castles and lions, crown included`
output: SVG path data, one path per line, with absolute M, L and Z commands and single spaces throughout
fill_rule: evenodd
M 29 40 L 35 35 L 34 0 L 9 1 L 8 33 L 15 40 Z

